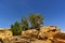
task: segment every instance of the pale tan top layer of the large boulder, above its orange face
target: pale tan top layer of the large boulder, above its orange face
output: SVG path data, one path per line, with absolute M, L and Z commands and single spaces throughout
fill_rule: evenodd
M 55 32 L 55 31 L 61 31 L 57 27 L 55 26 L 43 26 L 40 28 L 40 32 L 49 32 L 49 31 L 52 31 L 52 32 Z

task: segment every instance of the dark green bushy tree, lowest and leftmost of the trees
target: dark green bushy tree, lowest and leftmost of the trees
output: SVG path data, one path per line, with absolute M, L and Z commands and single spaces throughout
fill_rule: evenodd
M 22 33 L 22 29 L 17 22 L 15 22 L 14 25 L 13 24 L 11 25 L 11 30 L 12 30 L 13 35 L 18 35 Z

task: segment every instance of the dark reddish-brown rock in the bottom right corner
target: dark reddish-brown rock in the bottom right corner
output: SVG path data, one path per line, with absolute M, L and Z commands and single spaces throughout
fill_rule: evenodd
M 56 33 L 53 38 L 54 38 L 55 43 L 65 43 L 65 33 L 64 32 Z

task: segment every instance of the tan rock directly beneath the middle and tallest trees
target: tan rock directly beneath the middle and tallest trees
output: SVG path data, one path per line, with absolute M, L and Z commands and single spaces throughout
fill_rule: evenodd
M 29 35 L 29 37 L 32 37 L 32 38 L 37 38 L 38 37 L 38 31 L 36 29 L 22 31 L 22 35 Z

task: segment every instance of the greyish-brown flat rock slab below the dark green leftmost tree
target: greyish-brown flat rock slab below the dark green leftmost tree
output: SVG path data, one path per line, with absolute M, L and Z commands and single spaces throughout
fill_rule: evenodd
M 34 38 L 29 38 L 29 37 L 21 37 L 21 35 L 16 35 L 11 38 L 11 40 L 9 40 L 9 43 L 31 43 L 31 41 L 35 41 L 36 39 Z

